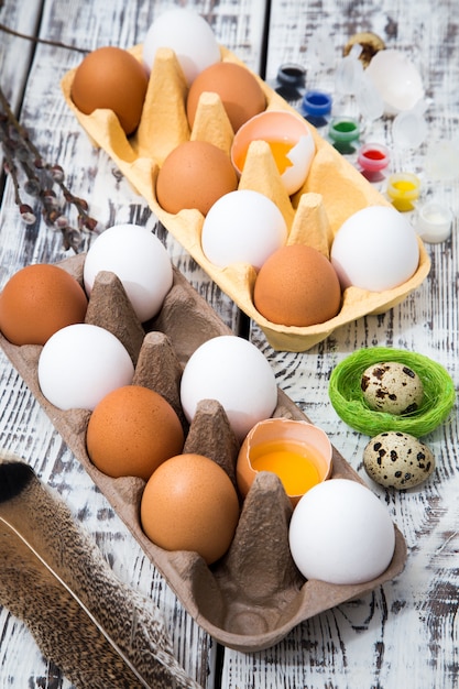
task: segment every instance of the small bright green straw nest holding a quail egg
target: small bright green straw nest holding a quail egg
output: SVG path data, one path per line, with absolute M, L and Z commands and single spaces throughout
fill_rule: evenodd
M 360 386 L 362 373 L 384 361 L 404 363 L 420 378 L 424 398 L 415 412 L 394 415 L 375 412 L 367 404 Z M 341 361 L 331 373 L 328 394 L 342 420 L 371 437 L 384 430 L 400 430 L 416 438 L 425 436 L 447 418 L 456 401 L 453 382 L 440 364 L 423 354 L 385 347 L 360 349 Z

